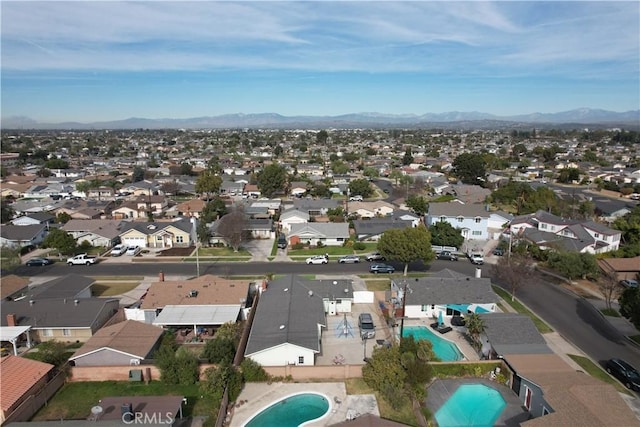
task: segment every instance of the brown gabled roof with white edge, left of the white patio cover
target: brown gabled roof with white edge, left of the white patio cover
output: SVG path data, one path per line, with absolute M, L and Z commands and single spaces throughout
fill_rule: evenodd
M 100 329 L 76 350 L 71 359 L 105 347 L 144 358 L 151 352 L 161 335 L 162 328 L 127 320 Z

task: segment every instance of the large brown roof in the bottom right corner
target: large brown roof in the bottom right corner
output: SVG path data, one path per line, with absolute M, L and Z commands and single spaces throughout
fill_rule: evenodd
M 555 354 L 506 355 L 519 375 L 542 388 L 554 412 L 523 423 L 537 426 L 633 426 L 638 419 L 616 389 L 574 371 Z

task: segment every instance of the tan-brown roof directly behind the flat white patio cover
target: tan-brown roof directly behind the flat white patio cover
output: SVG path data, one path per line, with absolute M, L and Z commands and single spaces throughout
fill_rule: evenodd
M 189 292 L 198 291 L 197 297 Z M 193 280 L 152 283 L 143 297 L 142 309 L 162 308 L 167 305 L 238 304 L 247 297 L 248 280 L 229 280 L 207 274 Z

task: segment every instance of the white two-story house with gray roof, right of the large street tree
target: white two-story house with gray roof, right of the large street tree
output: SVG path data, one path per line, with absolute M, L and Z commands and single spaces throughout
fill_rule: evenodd
M 430 203 L 427 227 L 439 221 L 460 229 L 465 240 L 487 240 L 489 236 L 489 212 L 484 205 L 460 202 Z

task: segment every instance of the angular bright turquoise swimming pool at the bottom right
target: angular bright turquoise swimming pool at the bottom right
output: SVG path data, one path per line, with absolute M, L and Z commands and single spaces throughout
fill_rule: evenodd
M 440 427 L 491 427 L 507 406 L 499 391 L 484 384 L 463 384 L 438 412 Z

